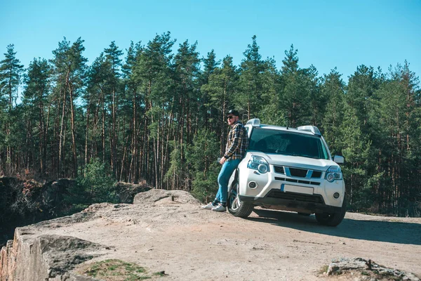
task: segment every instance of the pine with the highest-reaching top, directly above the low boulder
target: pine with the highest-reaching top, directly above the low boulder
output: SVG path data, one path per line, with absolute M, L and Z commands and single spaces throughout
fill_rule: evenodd
M 171 48 L 174 43 L 170 32 L 156 35 L 142 50 L 133 67 L 133 79 L 139 85 L 145 105 L 143 146 L 140 151 L 144 157 L 139 166 L 142 176 L 153 182 L 156 188 L 162 187 L 164 171 L 168 169 L 168 140 L 174 135 L 170 130 L 175 126 L 173 120 L 178 114 L 175 107 L 180 100 L 178 91 L 173 89 Z M 178 136 L 176 140 L 179 141 Z

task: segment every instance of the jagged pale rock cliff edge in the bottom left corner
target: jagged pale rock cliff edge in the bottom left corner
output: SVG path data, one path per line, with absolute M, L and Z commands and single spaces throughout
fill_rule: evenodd
M 90 219 L 88 213 L 52 220 L 48 227 Z M 41 223 L 39 226 L 43 226 Z M 44 223 L 44 227 L 47 226 Z M 72 236 L 47 235 L 36 225 L 17 228 L 0 251 L 0 280 L 88 280 L 69 273 L 75 266 L 99 256 L 100 244 Z

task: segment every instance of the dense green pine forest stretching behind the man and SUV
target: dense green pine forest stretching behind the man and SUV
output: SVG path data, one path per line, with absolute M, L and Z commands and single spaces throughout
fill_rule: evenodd
M 27 69 L 13 44 L 1 52 L 1 175 L 80 178 L 99 162 L 115 181 L 210 200 L 235 108 L 244 124 L 317 126 L 345 157 L 350 210 L 421 215 L 421 89 L 409 62 L 356 65 L 345 80 L 337 68 L 301 68 L 293 45 L 277 69 L 255 36 L 240 65 L 170 32 L 125 51 L 112 41 L 89 64 L 83 42 L 64 38 Z

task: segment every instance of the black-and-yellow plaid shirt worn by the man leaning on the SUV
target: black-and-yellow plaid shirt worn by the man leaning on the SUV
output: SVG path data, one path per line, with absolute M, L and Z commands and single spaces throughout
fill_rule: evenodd
M 225 159 L 243 159 L 248 148 L 248 134 L 243 124 L 237 121 L 228 133 Z

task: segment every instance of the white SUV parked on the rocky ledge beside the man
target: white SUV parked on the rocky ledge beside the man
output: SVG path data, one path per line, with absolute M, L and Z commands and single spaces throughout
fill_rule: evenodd
M 246 218 L 255 205 L 297 211 L 326 226 L 345 216 L 345 183 L 338 164 L 316 126 L 297 129 L 246 123 L 250 145 L 229 181 L 228 211 Z M 338 164 L 337 164 L 338 163 Z

